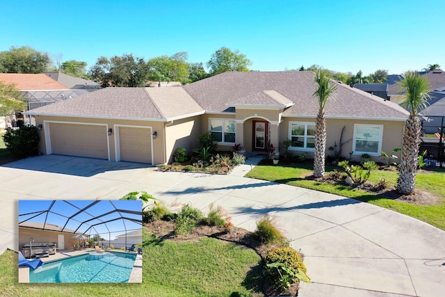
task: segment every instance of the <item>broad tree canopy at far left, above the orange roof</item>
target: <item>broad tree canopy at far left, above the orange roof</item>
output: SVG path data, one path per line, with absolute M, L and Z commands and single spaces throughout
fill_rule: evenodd
M 48 70 L 51 59 L 44 51 L 31 47 L 11 47 L 0 51 L 0 72 L 42 73 Z

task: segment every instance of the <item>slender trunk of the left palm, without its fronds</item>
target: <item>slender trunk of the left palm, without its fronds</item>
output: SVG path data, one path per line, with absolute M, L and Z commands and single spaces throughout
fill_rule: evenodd
M 320 109 L 315 123 L 314 177 L 325 175 L 326 120 L 325 111 Z

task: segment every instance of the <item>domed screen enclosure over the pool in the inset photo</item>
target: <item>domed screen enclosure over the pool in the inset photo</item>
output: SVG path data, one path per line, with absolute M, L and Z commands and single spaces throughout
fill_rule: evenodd
M 140 200 L 20 200 L 19 227 L 47 230 L 93 239 L 110 246 L 117 236 L 142 228 Z M 32 239 L 30 239 L 32 244 Z

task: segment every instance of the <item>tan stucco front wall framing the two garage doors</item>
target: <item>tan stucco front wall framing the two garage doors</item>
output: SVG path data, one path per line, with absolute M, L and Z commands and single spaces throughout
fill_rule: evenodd
M 49 126 L 52 123 L 70 123 L 71 125 L 75 124 L 92 124 L 92 125 L 103 125 L 104 134 L 106 137 L 106 142 L 108 146 L 108 158 L 111 161 L 116 161 L 116 156 L 118 154 L 118 159 L 120 159 L 120 151 L 116 150 L 120 145 L 120 140 L 117 138 L 116 129 L 119 127 L 145 127 L 147 131 L 146 134 L 152 134 L 156 131 L 156 139 L 152 140 L 152 152 L 153 152 L 153 164 L 165 163 L 165 147 L 164 147 L 164 125 L 165 122 L 149 122 L 144 120 L 115 120 L 115 119 L 96 119 L 96 118 L 72 118 L 72 117 L 53 117 L 47 115 L 35 116 L 36 125 L 42 125 L 44 129 L 39 131 L 40 134 L 40 143 L 39 143 L 39 151 L 42 154 L 51 154 L 51 143 L 47 144 L 47 141 L 52 136 L 49 133 Z M 108 129 L 112 129 L 113 133 L 108 136 Z M 57 137 L 57 136 L 56 136 Z M 57 140 L 56 140 L 57 141 Z M 80 156 L 80 155 L 79 155 Z

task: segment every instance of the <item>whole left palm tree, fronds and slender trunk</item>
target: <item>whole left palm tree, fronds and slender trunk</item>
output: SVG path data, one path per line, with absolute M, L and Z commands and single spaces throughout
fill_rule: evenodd
M 317 70 L 314 81 L 318 87 L 312 95 L 318 98 L 318 115 L 315 123 L 314 177 L 325 175 L 326 120 L 325 106 L 335 89 L 334 81 L 326 70 Z

